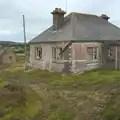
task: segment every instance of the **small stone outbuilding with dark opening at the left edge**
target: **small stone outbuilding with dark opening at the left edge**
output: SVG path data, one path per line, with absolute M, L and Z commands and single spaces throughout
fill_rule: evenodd
M 16 63 L 16 54 L 12 48 L 0 48 L 0 65 Z

